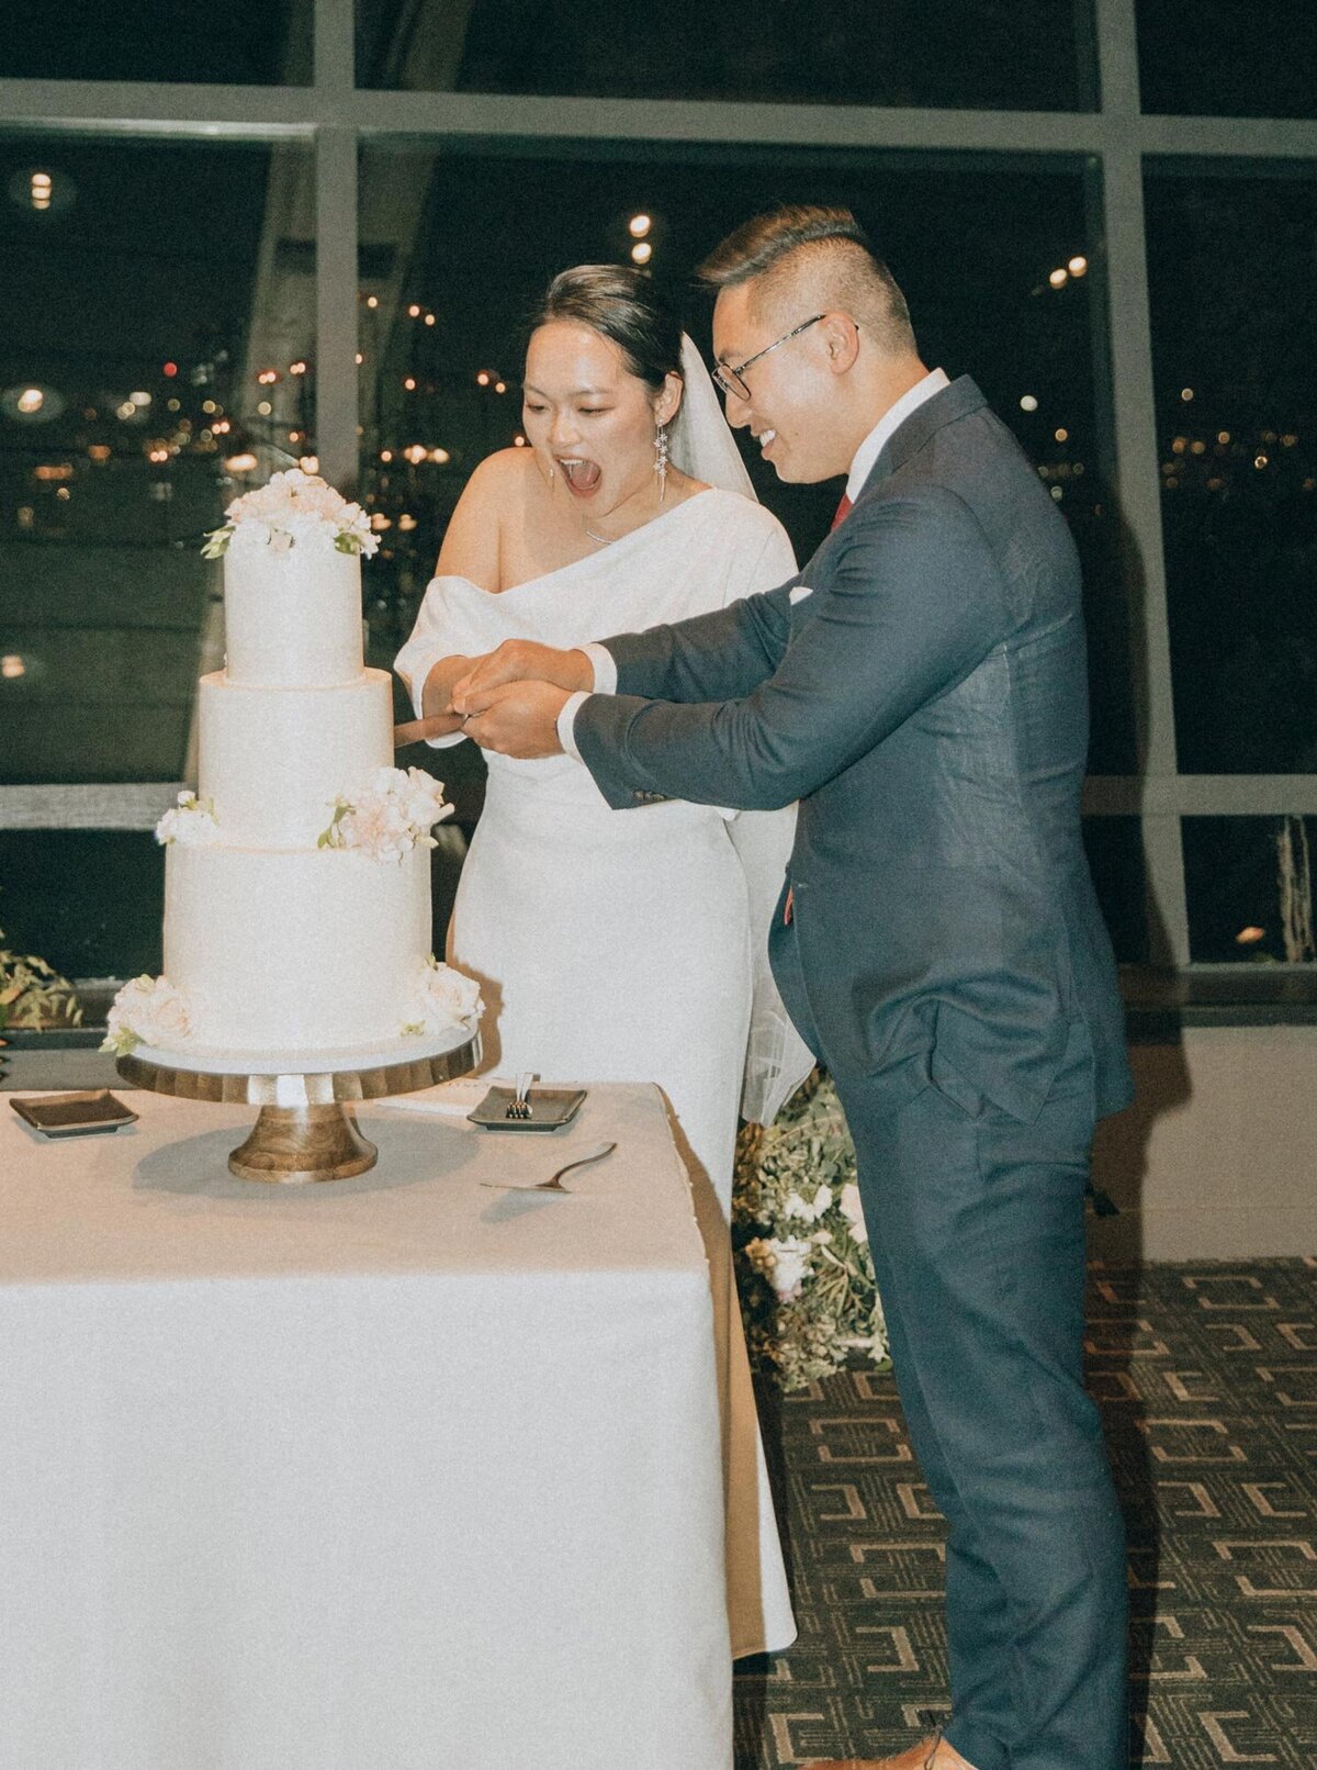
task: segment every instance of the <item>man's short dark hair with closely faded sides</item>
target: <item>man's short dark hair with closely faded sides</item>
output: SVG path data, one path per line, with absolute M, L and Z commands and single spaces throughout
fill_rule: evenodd
M 915 350 L 906 299 L 850 209 L 789 204 L 754 216 L 705 258 L 699 280 L 712 289 L 754 283 L 751 306 L 774 324 L 836 310 L 885 356 Z

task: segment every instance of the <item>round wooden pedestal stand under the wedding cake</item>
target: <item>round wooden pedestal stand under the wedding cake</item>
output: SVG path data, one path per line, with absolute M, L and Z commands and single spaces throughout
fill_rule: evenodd
M 469 1074 L 480 1062 L 480 1032 L 455 1027 L 435 1039 L 398 1039 L 365 1051 L 281 1053 L 257 1069 L 255 1053 L 159 1051 L 140 1044 L 115 1064 L 124 1081 L 189 1101 L 258 1106 L 246 1143 L 228 1168 L 244 1181 L 303 1186 L 345 1181 L 374 1168 L 379 1150 L 345 1112 L 349 1101 L 412 1094 Z

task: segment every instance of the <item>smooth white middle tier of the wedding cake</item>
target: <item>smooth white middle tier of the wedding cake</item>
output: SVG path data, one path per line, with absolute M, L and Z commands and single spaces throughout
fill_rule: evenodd
M 198 795 L 221 841 L 313 848 L 335 798 L 393 763 L 393 685 L 363 671 L 331 689 L 246 687 L 223 671 L 198 692 Z

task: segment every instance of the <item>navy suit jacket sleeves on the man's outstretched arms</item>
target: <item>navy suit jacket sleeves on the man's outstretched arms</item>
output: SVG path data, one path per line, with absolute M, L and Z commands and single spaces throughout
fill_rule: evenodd
M 942 487 L 857 510 L 809 604 L 789 643 L 786 588 L 667 628 L 664 671 L 623 671 L 621 694 L 581 706 L 577 749 L 611 805 L 666 795 L 766 811 L 804 798 L 968 676 L 1021 618 L 977 519 Z M 749 687 L 743 671 L 717 697 L 736 674 L 733 639 L 749 653 L 754 635 L 775 664 Z M 696 655 L 705 637 L 713 669 Z M 637 678 L 666 681 L 673 699 L 673 685 L 713 694 L 701 704 L 641 699 Z

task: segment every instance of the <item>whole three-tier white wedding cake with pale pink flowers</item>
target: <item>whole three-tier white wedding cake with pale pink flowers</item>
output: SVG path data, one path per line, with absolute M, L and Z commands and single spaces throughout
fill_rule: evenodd
M 476 986 L 430 956 L 443 786 L 393 761 L 386 671 L 363 667 L 356 504 L 299 471 L 228 506 L 225 669 L 202 676 L 196 793 L 158 830 L 165 974 L 110 1044 L 262 1062 L 368 1055 L 474 1027 Z

